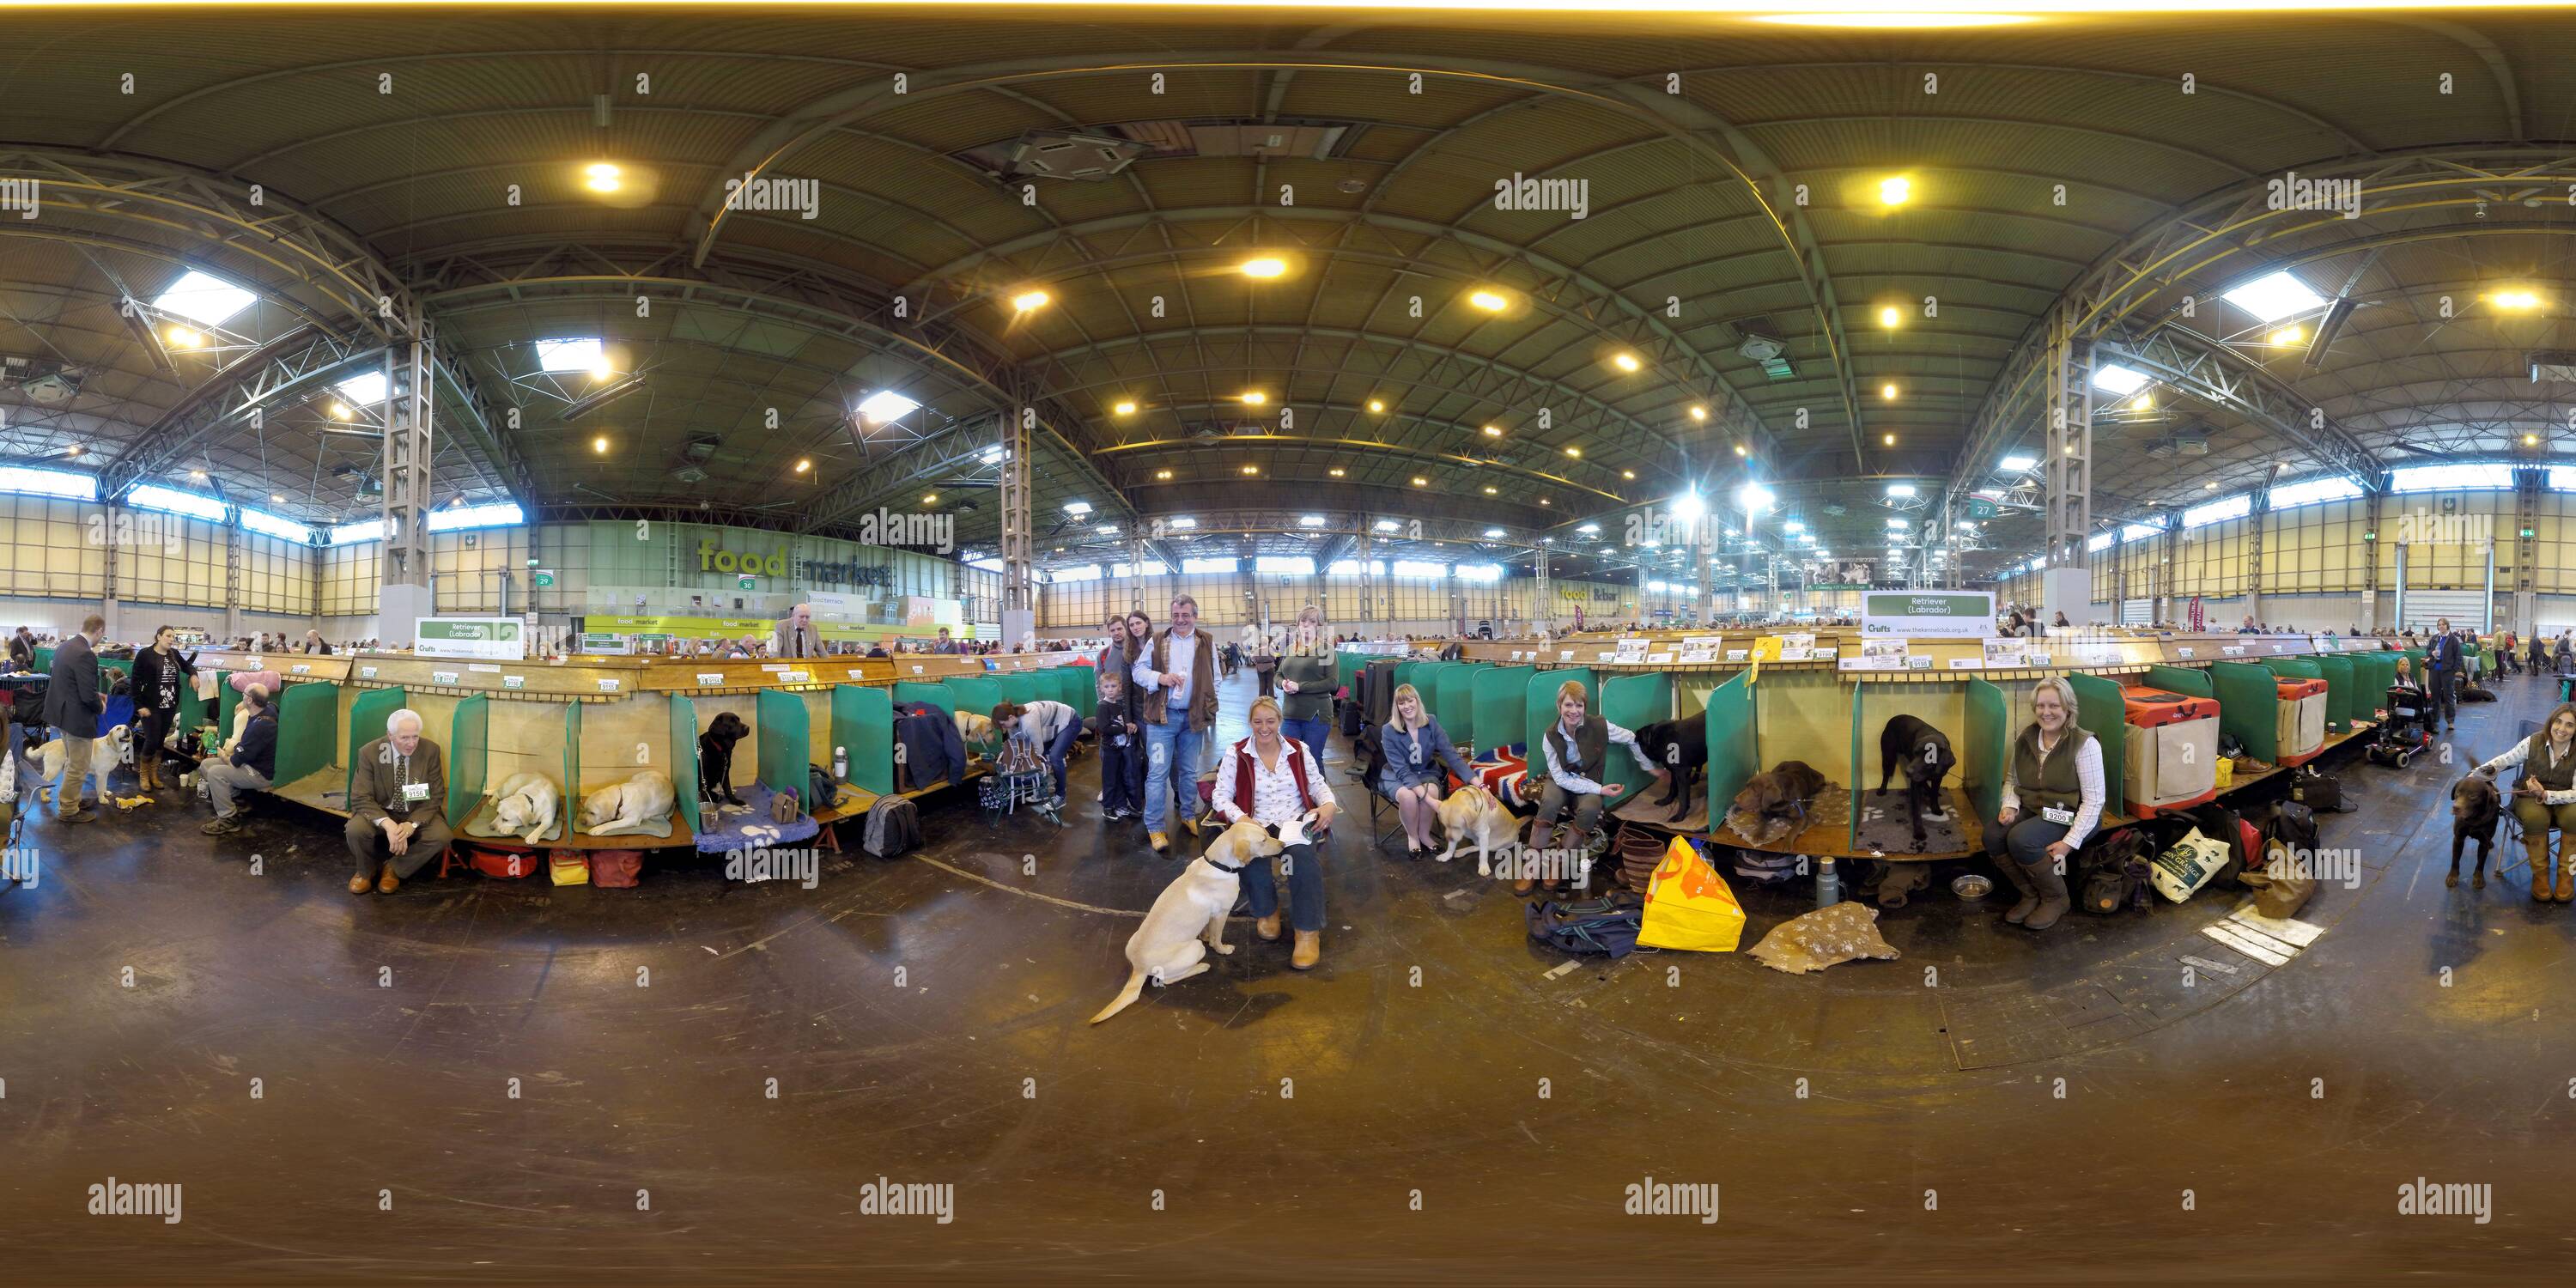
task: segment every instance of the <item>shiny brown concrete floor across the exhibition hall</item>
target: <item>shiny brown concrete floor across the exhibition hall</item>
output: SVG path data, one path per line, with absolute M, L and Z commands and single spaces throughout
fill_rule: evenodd
M 2458 760 L 2555 693 L 2499 685 Z M 2576 909 L 2442 886 L 2458 760 L 2344 765 L 2360 881 L 2285 963 L 2202 935 L 2223 896 L 2027 935 L 1937 891 L 1883 917 L 1899 961 L 1558 971 L 1471 866 L 1345 827 L 1321 969 L 1236 922 L 1100 1028 L 1177 866 L 1097 822 L 1092 760 L 1066 829 L 951 796 L 927 850 L 817 889 L 353 899 L 291 806 L 227 840 L 173 804 L 44 819 L 41 881 L 0 891 L 0 1280 L 2553 1273 Z M 1744 899 L 1747 945 L 1808 902 Z M 183 1218 L 88 1216 L 111 1177 Z M 953 1218 L 863 1211 L 878 1180 Z M 2488 1218 L 2401 1216 L 2416 1180 Z M 1649 1182 L 1721 1218 L 1625 1216 Z

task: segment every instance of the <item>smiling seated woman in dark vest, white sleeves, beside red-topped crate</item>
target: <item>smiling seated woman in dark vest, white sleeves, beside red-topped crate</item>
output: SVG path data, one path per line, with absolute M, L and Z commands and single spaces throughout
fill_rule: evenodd
M 2102 822 L 2102 744 L 2076 724 L 2076 690 L 2050 675 L 2030 693 L 2035 716 L 2004 757 L 2004 809 L 1986 829 L 1986 853 L 2022 902 L 2004 912 L 2025 930 L 2066 914 L 2066 860 Z M 2025 814 L 2027 811 L 2027 814 Z

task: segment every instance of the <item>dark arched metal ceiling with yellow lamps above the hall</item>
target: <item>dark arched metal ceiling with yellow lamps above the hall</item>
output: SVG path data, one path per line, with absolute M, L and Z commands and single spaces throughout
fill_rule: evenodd
M 204 471 L 314 520 L 371 507 L 374 443 L 327 399 L 198 435 L 175 412 L 299 325 L 368 340 L 379 289 L 417 299 L 500 422 L 443 440 L 443 489 L 788 528 L 940 495 L 979 502 L 961 536 L 989 544 L 974 448 L 1030 399 L 1041 526 L 1087 500 L 1069 549 L 1103 556 L 1126 533 L 1100 523 L 1216 507 L 1569 549 L 1589 546 L 1579 523 L 1749 477 L 1824 546 L 1875 554 L 1891 505 L 1994 487 L 1994 459 L 2035 443 L 1989 412 L 2040 319 L 2123 268 L 2146 286 L 2112 340 L 2190 327 L 2383 464 L 2571 443 L 2563 389 L 2530 379 L 2535 350 L 2576 348 L 2576 26 L 2550 13 L 1888 33 L 726 5 L 31 10 L 13 28 L 52 54 L 0 72 L 0 178 L 49 201 L 0 219 L 0 355 L 80 379 L 67 402 L 0 389 L 0 456 Z M 994 173 L 1046 134 L 1133 157 L 1097 180 Z M 582 191 L 592 160 L 626 170 L 618 196 Z M 2244 214 L 2290 170 L 2362 178 L 2365 216 Z M 814 216 L 729 211 L 744 175 L 814 180 Z M 1582 180 L 1584 216 L 1497 209 L 1515 175 Z M 1875 201 L 1888 175 L 1911 178 L 1909 204 Z M 1236 273 L 1255 252 L 1293 270 Z M 229 348 L 170 350 L 126 317 L 188 265 L 263 294 Z M 2316 366 L 2226 307 L 2174 317 L 2277 268 L 2357 304 Z M 2499 283 L 2545 307 L 2499 314 L 2481 299 Z M 1028 289 L 1051 304 L 1018 314 Z M 1486 314 L 1473 289 L 1512 307 Z M 587 386 L 533 355 L 564 335 L 603 337 L 641 386 L 567 422 Z M 1754 335 L 1788 374 L 1741 353 Z M 858 428 L 873 389 L 925 410 Z M 2105 520 L 2331 464 L 2177 386 L 2097 435 Z M 2177 435 L 2208 451 L 2161 451 Z M 2035 541 L 2027 518 L 1984 538 Z

